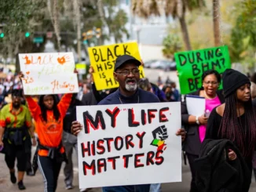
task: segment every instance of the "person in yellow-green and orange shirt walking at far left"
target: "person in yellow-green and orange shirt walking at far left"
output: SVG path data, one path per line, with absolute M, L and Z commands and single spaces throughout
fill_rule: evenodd
M 21 104 L 22 90 L 13 89 L 12 103 L 5 105 L 0 115 L 0 147 L 5 150 L 5 162 L 9 168 L 10 180 L 16 183 L 15 159 L 18 168 L 18 187 L 25 190 L 23 179 L 27 165 L 27 154 L 30 152 L 31 138 L 35 146 L 35 135 L 31 114 Z M 3 140 L 2 140 L 3 138 Z

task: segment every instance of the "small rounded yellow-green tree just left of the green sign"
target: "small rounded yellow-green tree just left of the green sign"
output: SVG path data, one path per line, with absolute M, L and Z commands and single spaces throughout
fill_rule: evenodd
M 174 53 L 181 51 L 182 43 L 177 34 L 168 34 L 163 39 L 163 56 L 168 59 L 174 59 Z

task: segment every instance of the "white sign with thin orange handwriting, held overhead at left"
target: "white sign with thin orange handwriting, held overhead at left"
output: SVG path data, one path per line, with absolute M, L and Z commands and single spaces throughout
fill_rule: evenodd
M 19 54 L 25 95 L 79 92 L 73 53 Z

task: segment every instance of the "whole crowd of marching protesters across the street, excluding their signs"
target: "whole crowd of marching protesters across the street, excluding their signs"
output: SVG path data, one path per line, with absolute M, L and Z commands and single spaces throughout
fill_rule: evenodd
M 181 101 L 181 122 L 184 129 L 178 130 L 177 135 L 183 138 L 184 158 L 185 161 L 188 158 L 192 172 L 190 191 L 208 191 L 209 187 L 217 185 L 219 178 L 215 178 L 213 183 L 212 178 L 207 176 L 213 174 L 213 168 L 218 168 L 214 165 L 215 167 L 207 169 L 206 166 L 209 164 L 206 165 L 205 162 L 206 158 L 218 161 L 218 164 L 222 161 L 216 159 L 217 155 L 214 157 L 209 155 L 208 150 L 213 149 L 213 146 L 218 146 L 218 149 L 225 147 L 229 166 L 235 168 L 236 172 L 239 171 L 236 173 L 236 179 L 233 181 L 226 179 L 225 183 L 222 183 L 225 189 L 237 192 L 248 191 L 252 170 L 256 178 L 254 153 L 256 73 L 249 79 L 234 70 L 225 71 L 222 77 L 217 71 L 205 71 L 202 76 L 202 88 L 188 94 L 201 96 L 206 100 L 205 114 L 196 116 L 188 114 L 186 96 L 181 100 L 176 83 L 169 77 L 165 81 L 159 77 L 157 82 L 150 82 L 148 78 L 140 79 L 137 70 L 140 61 L 130 56 L 121 56 L 119 60 L 115 63 L 114 73 L 119 88 L 103 91 L 97 91 L 93 77 L 90 75 L 90 78 L 79 82 L 78 93 L 24 96 L 20 81 L 23 78 L 22 72 L 20 74 L 9 72 L 5 78 L 1 78 L 0 150 L 5 154 L 10 181 L 17 182 L 18 188 L 25 190 L 23 183 L 25 172 L 27 176 L 35 176 L 38 168 L 43 176 L 45 190 L 56 191 L 61 162 L 64 161 L 64 183 L 67 190 L 73 188 L 72 154 L 73 150 L 76 154 L 78 150 L 77 138 L 74 134 L 76 135 L 80 128 L 79 122 L 76 121 L 77 106 Z M 90 74 L 92 73 L 93 68 L 90 67 Z M 219 90 L 221 82 L 223 89 Z M 138 102 L 137 96 L 141 94 L 144 97 Z M 31 157 L 31 146 L 35 145 L 37 146 L 35 156 Z M 218 151 L 214 153 L 218 154 Z M 17 179 L 15 160 L 17 160 Z M 204 166 L 204 172 L 198 171 L 200 166 Z M 237 166 L 240 166 L 240 169 Z M 222 168 L 226 168 L 225 165 L 222 165 Z M 228 173 L 225 174 L 227 178 L 230 175 Z M 221 175 L 220 170 L 218 174 Z M 133 189 L 133 187 L 103 188 L 105 192 L 133 191 Z M 152 192 L 161 190 L 160 184 L 140 185 L 137 189 Z M 86 190 L 88 189 L 81 189 L 81 191 Z

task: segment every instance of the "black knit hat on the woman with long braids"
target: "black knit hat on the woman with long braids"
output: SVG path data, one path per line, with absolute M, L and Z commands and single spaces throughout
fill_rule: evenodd
M 240 86 L 245 84 L 250 84 L 251 82 L 249 78 L 245 74 L 240 73 L 239 71 L 233 69 L 227 69 L 222 74 L 223 79 L 223 91 L 225 98 L 230 94 L 236 91 L 236 89 L 240 88 Z

